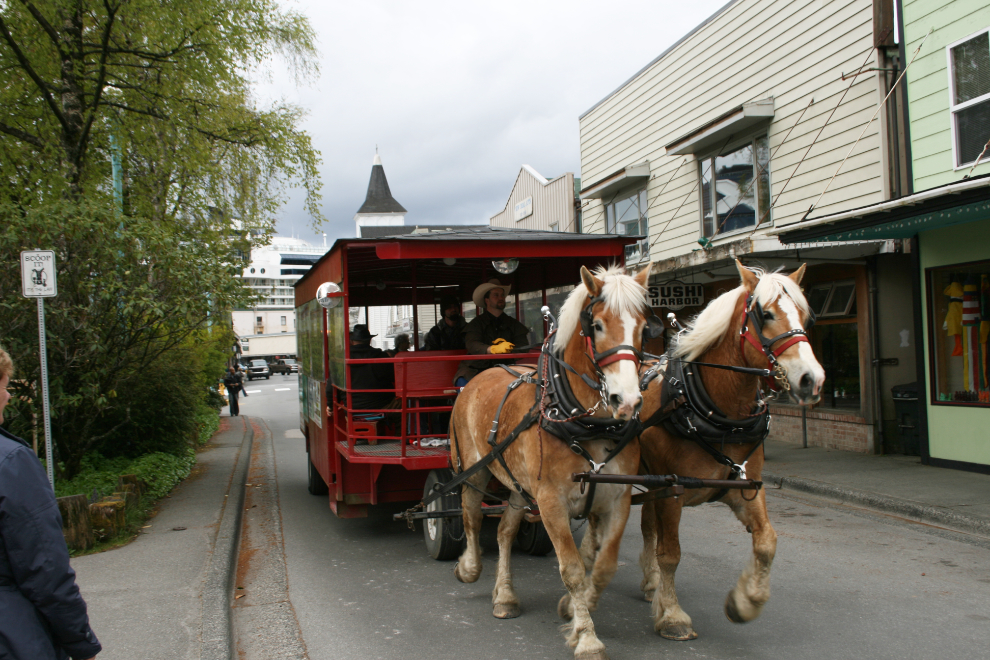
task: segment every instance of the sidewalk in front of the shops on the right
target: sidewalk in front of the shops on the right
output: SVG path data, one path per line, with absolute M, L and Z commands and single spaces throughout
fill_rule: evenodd
M 917 456 L 872 456 L 767 441 L 763 480 L 930 525 L 990 537 L 990 475 L 922 465 Z

